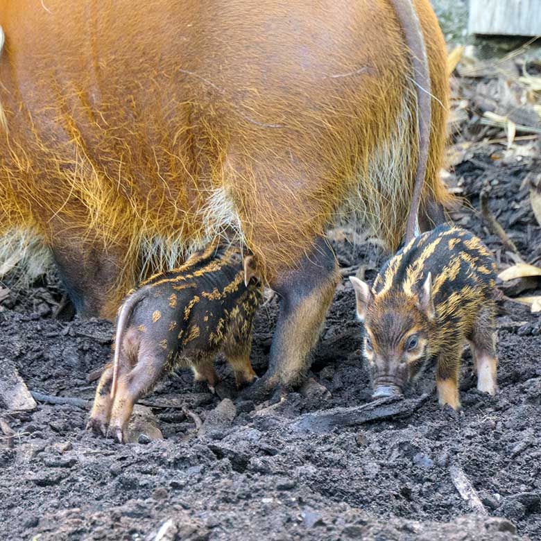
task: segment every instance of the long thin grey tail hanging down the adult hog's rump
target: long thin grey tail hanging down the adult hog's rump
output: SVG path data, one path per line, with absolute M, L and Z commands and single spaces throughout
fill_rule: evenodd
M 411 207 L 406 221 L 406 243 L 419 234 L 419 206 L 427 175 L 431 126 L 431 83 L 427 48 L 419 17 L 411 0 L 390 0 L 400 22 L 413 67 L 413 84 L 417 91 L 418 156 Z

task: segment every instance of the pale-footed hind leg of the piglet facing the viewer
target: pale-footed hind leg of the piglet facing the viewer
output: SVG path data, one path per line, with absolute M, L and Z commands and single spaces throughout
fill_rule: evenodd
M 481 309 L 470 338 L 474 368 L 477 372 L 477 388 L 492 396 L 498 390 L 494 313 L 494 307 Z

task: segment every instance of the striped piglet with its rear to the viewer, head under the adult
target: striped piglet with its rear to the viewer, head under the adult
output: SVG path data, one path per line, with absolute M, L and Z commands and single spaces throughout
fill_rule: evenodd
M 217 382 L 214 359 L 223 352 L 237 386 L 250 383 L 253 317 L 261 298 L 252 257 L 234 246 L 209 246 L 184 266 L 153 276 L 119 310 L 114 360 L 96 390 L 87 428 L 120 442 L 133 404 L 158 379 L 191 368 L 197 381 Z

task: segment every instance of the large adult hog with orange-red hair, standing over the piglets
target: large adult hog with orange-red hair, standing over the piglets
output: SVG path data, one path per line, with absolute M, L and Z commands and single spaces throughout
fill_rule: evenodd
M 0 0 L 0 25 L 2 259 L 45 247 L 78 311 L 114 318 L 139 278 L 237 237 L 281 297 L 254 396 L 307 368 L 327 227 L 395 249 L 415 178 L 421 229 L 449 198 L 429 0 Z

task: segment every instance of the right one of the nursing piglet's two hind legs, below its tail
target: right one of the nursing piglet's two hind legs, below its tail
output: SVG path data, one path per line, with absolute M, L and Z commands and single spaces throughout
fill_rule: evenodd
M 133 405 L 155 386 L 166 362 L 166 352 L 161 354 L 151 348 L 141 347 L 137 364 L 129 372 L 119 375 L 109 422 L 109 433 L 119 443 L 126 443 Z

